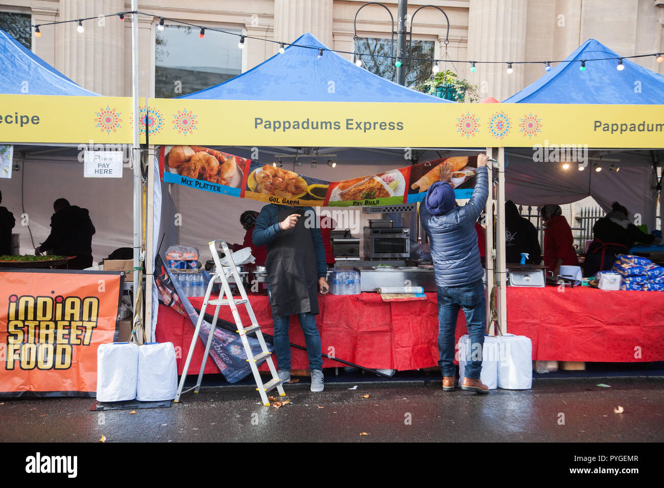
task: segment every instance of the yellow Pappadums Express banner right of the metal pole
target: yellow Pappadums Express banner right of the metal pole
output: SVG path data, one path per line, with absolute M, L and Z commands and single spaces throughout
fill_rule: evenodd
M 344 147 L 661 147 L 664 106 L 150 100 L 151 143 Z

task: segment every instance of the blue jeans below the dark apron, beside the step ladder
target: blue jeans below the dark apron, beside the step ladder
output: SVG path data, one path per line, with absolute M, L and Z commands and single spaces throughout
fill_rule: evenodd
M 316 327 L 316 315 L 310 312 L 298 313 L 299 325 L 304 333 L 307 346 L 309 369 L 323 369 L 321 358 L 321 336 Z M 290 339 L 288 338 L 288 321 L 290 317 L 274 317 L 274 352 L 277 354 L 277 365 L 280 370 L 290 371 Z

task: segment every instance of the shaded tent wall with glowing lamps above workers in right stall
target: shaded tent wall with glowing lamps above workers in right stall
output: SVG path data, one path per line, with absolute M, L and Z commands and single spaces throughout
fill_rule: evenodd
M 593 197 L 604 211 L 611 209 L 614 201 L 629 210 L 630 218 L 641 215 L 641 223 L 655 229 L 657 191 L 656 174 L 649 151 L 612 153 L 608 159 L 620 159 L 613 163 L 620 167 L 618 173 L 609 170 L 610 162 L 602 164 L 603 171 L 594 171 L 590 161 L 585 171 L 578 171 L 576 163 L 570 169 L 562 169 L 559 162 L 535 162 L 525 153 L 510 151 L 505 170 L 507 199 L 517 205 L 541 206 L 566 204 Z

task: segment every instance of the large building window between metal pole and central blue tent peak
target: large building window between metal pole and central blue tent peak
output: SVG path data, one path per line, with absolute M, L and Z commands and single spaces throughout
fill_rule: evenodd
M 242 34 L 234 29 L 224 29 Z M 242 72 L 238 36 L 216 31 L 169 25 L 156 31 L 155 97 L 173 98 L 198 92 Z

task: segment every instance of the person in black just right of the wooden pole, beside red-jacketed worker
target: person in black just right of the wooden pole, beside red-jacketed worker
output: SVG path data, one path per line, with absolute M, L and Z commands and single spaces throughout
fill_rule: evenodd
M 529 254 L 528 264 L 542 262 L 542 249 L 537 238 L 537 229 L 519 214 L 513 201 L 505 202 L 505 262 L 520 263 L 521 253 Z

